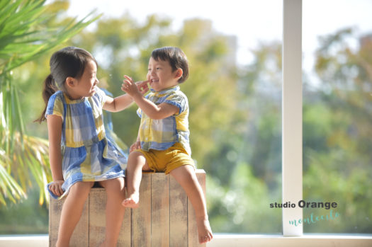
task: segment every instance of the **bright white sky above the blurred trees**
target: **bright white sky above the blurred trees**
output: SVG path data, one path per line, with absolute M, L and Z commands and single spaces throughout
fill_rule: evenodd
M 70 0 L 70 3 L 70 16 L 82 18 L 96 9 L 103 13 L 103 18 L 129 13 L 138 21 L 145 21 L 147 16 L 157 13 L 171 18 L 174 30 L 186 19 L 209 19 L 219 33 L 237 36 L 239 64 L 252 62 L 250 50 L 259 42 L 282 40 L 282 0 Z M 303 69 L 312 69 L 320 35 L 344 27 L 356 27 L 356 35 L 372 33 L 371 13 L 372 0 L 303 0 Z

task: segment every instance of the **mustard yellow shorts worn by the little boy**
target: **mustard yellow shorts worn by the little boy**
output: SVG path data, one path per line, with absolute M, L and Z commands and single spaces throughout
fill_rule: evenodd
M 154 172 L 170 173 L 175 168 L 180 166 L 191 165 L 195 169 L 195 163 L 191 156 L 187 154 L 184 147 L 179 142 L 176 142 L 172 147 L 167 150 L 150 149 L 144 151 L 137 149 L 147 161 L 147 166 Z

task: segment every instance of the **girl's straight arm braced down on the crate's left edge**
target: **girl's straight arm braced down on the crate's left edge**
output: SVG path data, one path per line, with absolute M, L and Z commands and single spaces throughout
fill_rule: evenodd
M 64 183 L 62 174 L 62 117 L 57 115 L 47 116 L 47 132 L 49 137 L 49 161 L 52 170 L 53 184 L 50 190 L 57 196 L 63 194 L 62 183 Z

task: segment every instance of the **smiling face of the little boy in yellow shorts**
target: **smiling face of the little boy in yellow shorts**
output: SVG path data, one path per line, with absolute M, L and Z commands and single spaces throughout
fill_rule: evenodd
M 169 61 L 161 59 L 157 61 L 150 57 L 147 80 L 150 80 L 150 86 L 154 91 L 162 91 L 178 85 L 178 80 L 181 76 L 182 69 L 172 71 Z

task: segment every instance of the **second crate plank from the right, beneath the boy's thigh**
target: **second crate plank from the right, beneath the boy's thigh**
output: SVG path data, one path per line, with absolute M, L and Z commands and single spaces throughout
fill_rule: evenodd
M 169 192 L 169 246 L 188 246 L 187 195 L 179 183 L 170 177 Z

